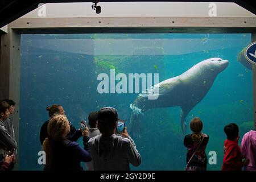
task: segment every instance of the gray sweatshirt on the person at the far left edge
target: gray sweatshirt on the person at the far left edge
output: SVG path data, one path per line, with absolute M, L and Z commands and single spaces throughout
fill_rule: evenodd
M 17 142 L 7 131 L 5 122 L 0 120 L 0 156 L 7 155 L 8 151 L 17 147 Z

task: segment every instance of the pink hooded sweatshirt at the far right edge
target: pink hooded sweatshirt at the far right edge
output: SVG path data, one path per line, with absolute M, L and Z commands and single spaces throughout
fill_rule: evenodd
M 243 156 L 250 160 L 245 170 L 256 171 L 256 131 L 249 131 L 243 135 L 240 147 Z

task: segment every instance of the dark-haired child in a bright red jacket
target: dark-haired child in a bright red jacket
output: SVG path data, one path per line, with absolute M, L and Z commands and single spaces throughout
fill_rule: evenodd
M 242 162 L 242 153 L 238 146 L 239 129 L 235 123 L 224 127 L 227 139 L 224 142 L 224 158 L 221 171 L 241 171 L 243 166 L 249 164 L 249 160 Z

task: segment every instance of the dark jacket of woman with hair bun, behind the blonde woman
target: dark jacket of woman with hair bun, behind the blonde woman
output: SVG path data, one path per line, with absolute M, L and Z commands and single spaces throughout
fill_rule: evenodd
M 44 139 L 46 139 L 48 137 L 48 133 L 47 133 L 48 123 L 49 123 L 49 120 L 44 122 L 43 126 L 41 127 L 41 130 L 40 130 L 40 142 L 41 142 L 41 144 L 43 144 Z M 70 126 L 70 131 L 67 135 L 67 139 L 71 140 L 72 142 L 76 142 L 81 136 L 82 136 L 81 131 L 76 130 L 76 128 L 71 125 Z

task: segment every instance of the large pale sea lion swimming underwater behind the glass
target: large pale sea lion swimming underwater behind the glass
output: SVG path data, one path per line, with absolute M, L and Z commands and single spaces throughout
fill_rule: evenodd
M 157 107 L 181 107 L 180 121 L 183 134 L 187 130 L 185 118 L 208 93 L 218 73 L 228 67 L 229 61 L 210 58 L 194 65 L 179 76 L 164 80 L 151 86 L 146 93 L 139 94 L 133 104 L 130 117 L 131 134 L 140 134 L 140 119 L 145 111 Z M 158 89 L 158 90 L 157 90 Z M 156 92 L 155 92 L 156 90 Z M 148 100 L 157 94 L 158 99 Z

